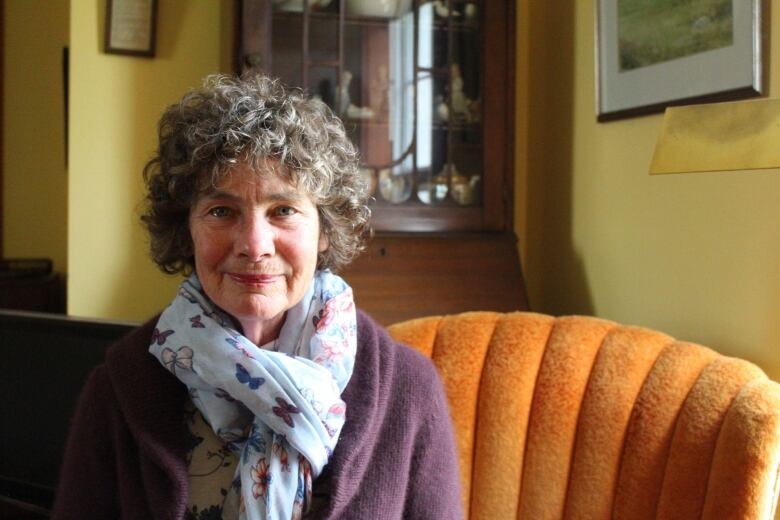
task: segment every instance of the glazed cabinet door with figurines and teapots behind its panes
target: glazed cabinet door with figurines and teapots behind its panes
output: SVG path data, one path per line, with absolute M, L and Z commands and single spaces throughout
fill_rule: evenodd
M 378 231 L 500 230 L 506 150 L 490 148 L 505 143 L 507 114 L 490 110 L 506 99 L 507 52 L 485 27 L 500 22 L 505 36 L 504 3 L 244 0 L 242 68 L 305 88 L 342 118 Z

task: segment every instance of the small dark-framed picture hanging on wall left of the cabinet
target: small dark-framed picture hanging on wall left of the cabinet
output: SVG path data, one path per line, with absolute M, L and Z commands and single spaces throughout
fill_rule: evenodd
M 106 52 L 154 56 L 157 0 L 107 0 Z

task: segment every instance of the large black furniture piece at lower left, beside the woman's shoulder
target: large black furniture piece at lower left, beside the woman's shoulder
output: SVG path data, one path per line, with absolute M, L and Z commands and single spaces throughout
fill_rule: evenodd
M 90 370 L 135 324 L 0 310 L 0 518 L 47 518 Z

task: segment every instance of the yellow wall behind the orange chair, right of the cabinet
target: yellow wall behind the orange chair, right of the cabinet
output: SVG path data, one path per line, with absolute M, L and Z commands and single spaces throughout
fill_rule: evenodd
M 657 328 L 780 380 L 780 172 L 649 176 L 661 116 L 595 119 L 594 1 L 518 13 L 529 83 L 516 229 L 531 305 Z M 768 11 L 780 27 L 780 4 Z

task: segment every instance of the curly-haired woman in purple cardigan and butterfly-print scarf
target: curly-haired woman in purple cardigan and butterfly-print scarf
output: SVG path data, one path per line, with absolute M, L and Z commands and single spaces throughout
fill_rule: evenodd
M 370 215 L 341 122 L 212 76 L 159 137 L 142 220 L 158 266 L 190 276 L 90 375 L 54 517 L 460 518 L 434 368 L 333 274 Z

